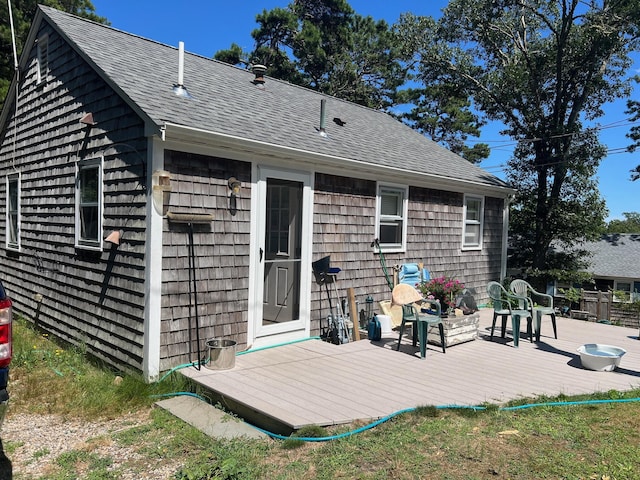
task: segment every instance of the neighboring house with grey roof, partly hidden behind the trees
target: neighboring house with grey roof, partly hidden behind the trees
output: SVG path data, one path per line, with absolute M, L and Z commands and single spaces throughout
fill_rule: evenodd
M 597 290 L 618 290 L 640 300 L 639 233 L 606 234 L 581 248 L 591 254 L 586 270 L 593 275 Z

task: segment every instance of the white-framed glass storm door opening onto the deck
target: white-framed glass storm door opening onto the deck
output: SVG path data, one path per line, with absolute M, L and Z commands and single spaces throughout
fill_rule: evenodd
M 249 337 L 253 346 L 309 335 L 311 174 L 258 167 Z

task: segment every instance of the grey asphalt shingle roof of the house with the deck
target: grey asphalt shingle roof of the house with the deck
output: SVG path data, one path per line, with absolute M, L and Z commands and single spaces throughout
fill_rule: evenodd
M 401 172 L 508 187 L 387 113 L 269 77 L 260 88 L 253 83 L 253 73 L 199 55 L 185 53 L 184 85 L 193 98 L 180 98 L 172 90 L 178 79 L 176 47 L 50 7 L 40 9 L 44 19 L 158 127 L 168 122 Z M 318 134 L 321 99 L 326 101 L 326 138 Z M 346 124 L 338 126 L 334 117 Z

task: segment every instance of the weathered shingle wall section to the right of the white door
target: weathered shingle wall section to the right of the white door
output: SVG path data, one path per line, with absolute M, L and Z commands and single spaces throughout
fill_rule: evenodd
M 483 248 L 462 251 L 463 198 L 462 193 L 410 187 L 407 252 L 384 255 L 391 278 L 393 266 L 423 262 L 432 277 L 455 276 L 477 290 L 479 303 L 486 298 L 486 283 L 500 275 L 503 201 L 485 198 Z M 346 289 L 353 287 L 359 310 L 369 294 L 376 307 L 378 301 L 390 299 L 381 258 L 371 248 L 376 182 L 316 174 L 314 208 L 313 260 L 330 255 L 331 265 L 341 268 L 339 294 L 346 296 Z M 312 334 L 318 334 L 329 304 L 320 286 L 312 288 Z M 331 294 L 334 302 L 333 289 Z

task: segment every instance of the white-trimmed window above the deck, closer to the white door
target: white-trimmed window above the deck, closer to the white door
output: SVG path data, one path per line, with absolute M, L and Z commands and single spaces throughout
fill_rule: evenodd
M 409 187 L 378 184 L 376 238 L 386 252 L 402 252 L 407 242 Z

